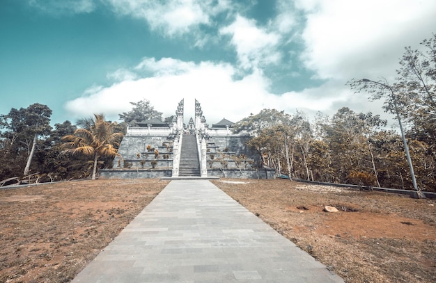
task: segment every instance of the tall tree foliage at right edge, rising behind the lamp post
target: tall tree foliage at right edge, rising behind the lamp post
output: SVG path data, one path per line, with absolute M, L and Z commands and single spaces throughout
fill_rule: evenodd
M 423 40 L 421 45 L 419 50 L 405 47 L 394 83 L 389 83 L 386 79 L 352 79 L 348 83 L 356 92 L 368 92 L 372 99 L 383 98 L 384 110 L 398 115 L 398 119 L 409 126 L 410 129 L 405 134 L 411 147 L 412 164 L 417 169 L 415 175 L 420 180 L 421 188 L 427 189 L 428 186 L 434 187 L 429 184 L 435 181 L 436 159 L 431 152 L 436 149 L 436 34 Z M 426 148 L 427 153 L 420 156 L 421 151 L 416 151 L 415 146 Z M 404 152 L 404 149 L 401 150 Z M 421 158 L 416 159 L 416 155 Z M 398 169 L 395 175 L 400 179 L 399 186 L 409 187 L 410 173 L 399 170 L 403 168 L 400 161 L 403 161 L 404 154 L 391 152 L 389 156 L 395 157 Z M 425 164 L 419 165 L 422 160 L 425 160 Z M 389 171 L 389 177 L 391 173 Z

